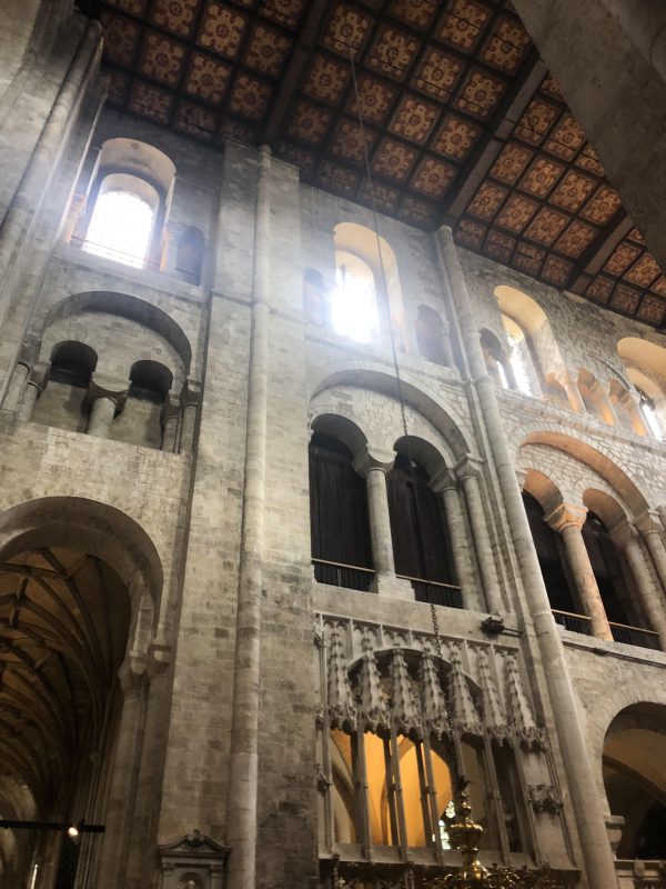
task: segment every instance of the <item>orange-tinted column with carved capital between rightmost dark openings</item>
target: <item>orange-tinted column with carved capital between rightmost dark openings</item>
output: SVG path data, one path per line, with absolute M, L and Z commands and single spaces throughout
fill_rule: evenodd
M 561 503 L 544 516 L 544 520 L 554 528 L 564 541 L 566 559 L 572 570 L 574 583 L 581 600 L 581 607 L 589 618 L 592 635 L 597 639 L 613 639 L 602 595 L 592 570 L 587 547 L 581 529 L 585 525 L 587 507 Z

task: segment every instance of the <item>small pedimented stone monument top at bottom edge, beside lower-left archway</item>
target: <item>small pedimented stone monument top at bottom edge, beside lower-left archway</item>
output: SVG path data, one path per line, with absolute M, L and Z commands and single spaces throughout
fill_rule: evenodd
M 158 846 L 161 889 L 224 889 L 224 861 L 230 851 L 199 830 Z

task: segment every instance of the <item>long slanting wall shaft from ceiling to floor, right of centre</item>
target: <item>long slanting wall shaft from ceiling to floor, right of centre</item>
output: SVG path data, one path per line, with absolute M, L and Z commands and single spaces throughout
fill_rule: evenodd
M 524 625 L 529 646 L 537 646 L 547 683 L 548 698 L 557 729 L 562 756 L 572 795 L 575 823 L 584 857 L 588 889 L 615 889 L 617 875 L 608 838 L 604 811 L 589 761 L 586 738 L 581 727 L 578 701 L 569 676 L 569 665 L 562 636 L 555 623 L 536 557 L 527 516 L 516 485 L 513 453 L 493 381 L 487 376 L 478 330 L 472 313 L 470 294 L 453 242 L 453 232 L 443 226 L 436 236 L 442 278 L 447 282 L 455 304 L 472 380 L 478 393 L 476 418 L 485 428 L 497 481 L 502 492 L 514 550 L 531 621 Z

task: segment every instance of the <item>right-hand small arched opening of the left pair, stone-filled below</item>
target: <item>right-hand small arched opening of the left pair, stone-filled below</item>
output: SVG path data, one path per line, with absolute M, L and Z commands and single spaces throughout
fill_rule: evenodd
M 137 361 L 130 371 L 130 380 L 127 402 L 113 421 L 109 438 L 145 448 L 160 448 L 162 408 L 173 374 L 158 361 Z

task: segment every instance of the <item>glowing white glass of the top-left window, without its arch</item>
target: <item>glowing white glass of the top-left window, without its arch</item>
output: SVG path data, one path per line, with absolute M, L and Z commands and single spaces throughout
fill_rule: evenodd
M 83 249 L 142 269 L 152 231 L 153 212 L 131 191 L 107 191 L 98 199 Z

